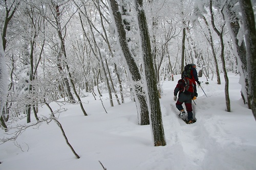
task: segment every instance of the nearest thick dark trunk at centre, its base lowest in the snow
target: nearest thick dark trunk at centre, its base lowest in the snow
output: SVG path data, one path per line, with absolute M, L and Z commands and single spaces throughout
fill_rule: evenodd
M 153 57 L 151 52 L 150 35 L 147 29 L 146 16 L 142 7 L 143 0 L 136 0 L 138 24 L 141 37 L 142 55 L 144 62 L 144 74 L 147 84 L 148 104 L 150 105 L 151 126 L 155 146 L 166 145 L 162 124 L 161 106 L 158 98 L 157 81 L 154 71 Z

